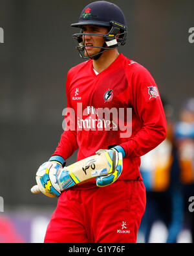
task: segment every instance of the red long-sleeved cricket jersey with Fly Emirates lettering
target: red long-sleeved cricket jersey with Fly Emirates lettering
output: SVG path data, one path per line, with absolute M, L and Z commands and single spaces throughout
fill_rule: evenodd
M 92 60 L 87 60 L 69 70 L 66 94 L 75 117 L 67 110 L 65 120 L 71 129 L 61 134 L 53 155 L 67 159 L 79 149 L 77 160 L 81 160 L 116 144 L 125 150 L 119 179 L 142 180 L 140 156 L 166 138 L 164 109 L 149 71 L 120 54 L 96 75 Z M 94 186 L 96 181 L 86 185 Z

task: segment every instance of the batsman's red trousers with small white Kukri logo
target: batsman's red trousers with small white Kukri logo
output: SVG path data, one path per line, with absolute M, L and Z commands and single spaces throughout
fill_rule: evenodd
M 58 199 L 45 242 L 134 243 L 146 208 L 142 181 L 103 188 L 71 188 Z

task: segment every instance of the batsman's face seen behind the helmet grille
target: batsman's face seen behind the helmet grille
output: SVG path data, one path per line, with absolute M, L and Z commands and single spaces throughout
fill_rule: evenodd
M 106 27 L 100 27 L 96 25 L 84 25 L 82 27 L 83 33 L 91 34 L 107 34 L 108 29 Z M 92 46 L 102 47 L 104 44 L 104 39 L 102 36 L 83 36 L 83 42 L 86 45 L 85 47 L 85 56 L 92 56 L 100 53 L 100 48 L 95 48 Z

